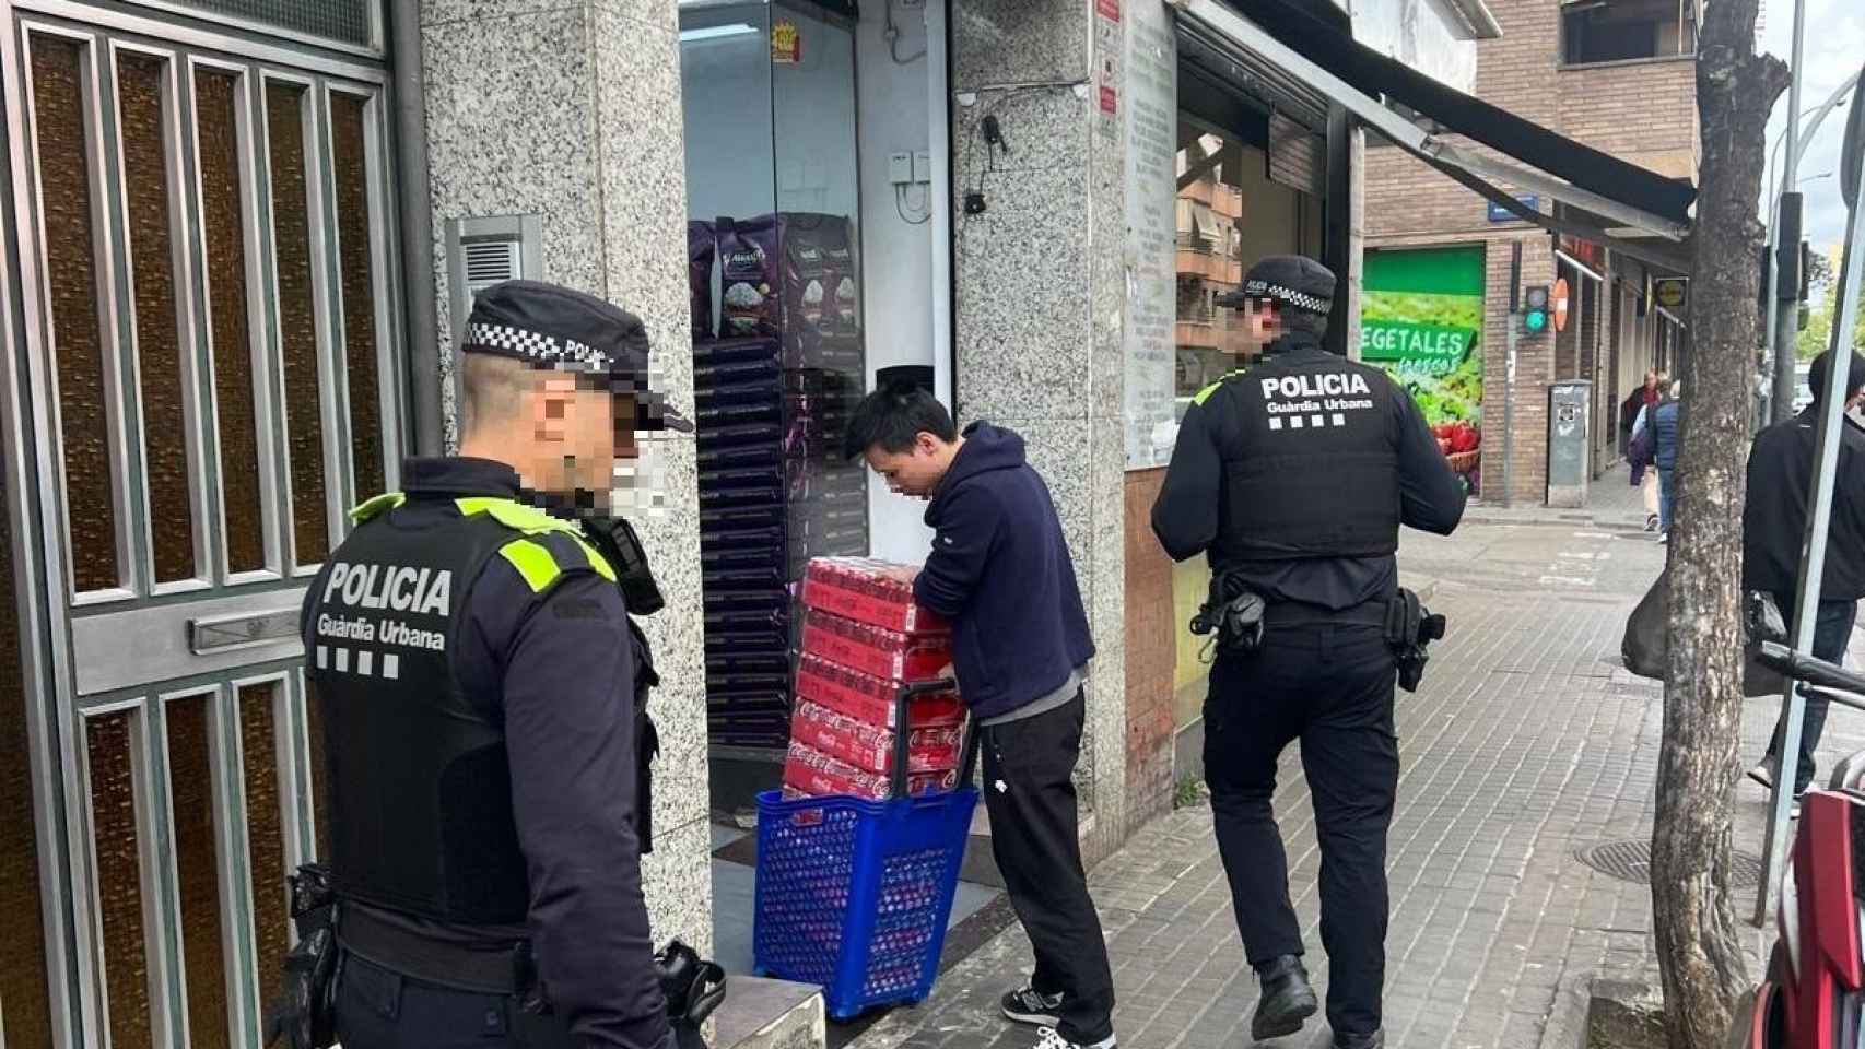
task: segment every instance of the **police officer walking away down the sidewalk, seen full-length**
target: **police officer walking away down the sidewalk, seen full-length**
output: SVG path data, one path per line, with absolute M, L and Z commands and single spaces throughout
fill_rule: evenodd
M 1335 1047 L 1367 1049 L 1382 1043 L 1399 784 L 1393 553 L 1401 524 L 1449 535 L 1464 494 L 1410 395 L 1322 348 L 1333 293 L 1311 259 L 1250 270 L 1238 300 L 1264 358 L 1194 397 L 1153 531 L 1177 561 L 1209 555 L 1212 615 L 1235 606 L 1261 630 L 1216 647 L 1205 701 L 1218 850 L 1263 991 L 1251 1032 L 1294 1034 L 1317 1010 L 1270 807 L 1276 762 L 1300 740 L 1322 853 L 1328 1023 Z

